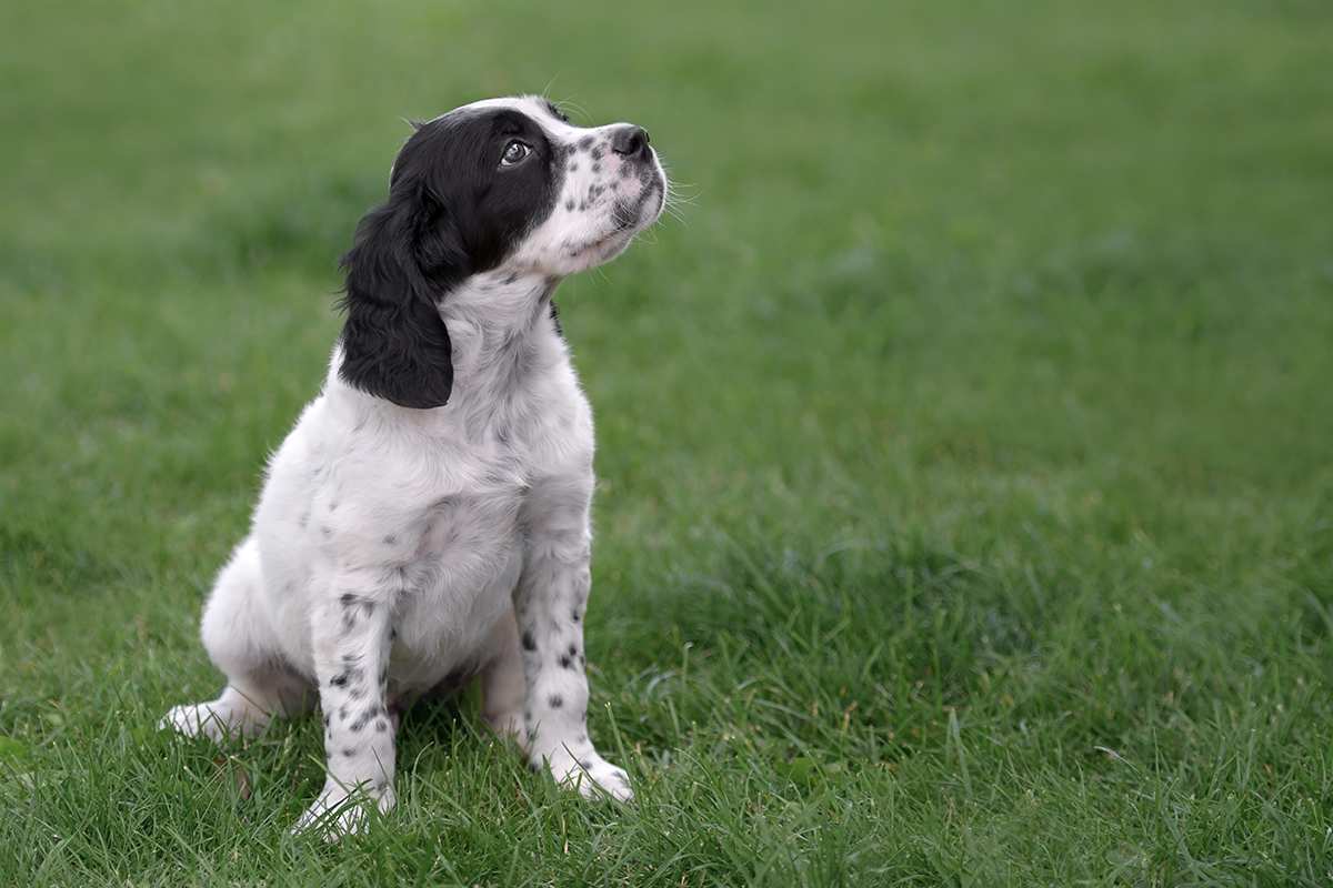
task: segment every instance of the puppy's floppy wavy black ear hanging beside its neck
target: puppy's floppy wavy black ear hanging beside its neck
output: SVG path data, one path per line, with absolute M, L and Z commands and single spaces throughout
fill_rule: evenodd
M 343 257 L 343 379 L 403 407 L 440 407 L 453 387 L 440 300 L 465 276 L 445 208 L 424 188 L 399 188 L 361 220 Z

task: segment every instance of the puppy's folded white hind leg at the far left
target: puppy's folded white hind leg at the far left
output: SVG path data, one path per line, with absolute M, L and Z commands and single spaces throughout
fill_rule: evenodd
M 275 715 L 309 711 L 313 688 L 279 652 L 273 628 L 260 611 L 261 582 L 259 547 L 247 538 L 219 572 L 200 628 L 204 648 L 227 675 L 227 687 L 216 700 L 172 708 L 159 727 L 224 740 L 259 734 Z

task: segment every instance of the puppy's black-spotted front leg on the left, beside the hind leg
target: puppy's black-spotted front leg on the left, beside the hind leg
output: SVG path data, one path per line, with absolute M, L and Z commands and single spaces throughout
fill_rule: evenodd
M 395 719 L 387 699 L 392 602 L 365 580 L 340 576 L 311 614 L 328 775 L 297 832 L 316 824 L 331 839 L 360 832 L 367 800 L 381 812 L 395 804 Z

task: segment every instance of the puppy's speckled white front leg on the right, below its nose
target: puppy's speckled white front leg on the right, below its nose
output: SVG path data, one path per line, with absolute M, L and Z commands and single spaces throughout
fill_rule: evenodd
M 529 762 L 585 796 L 632 797 L 625 772 L 588 738 L 583 618 L 592 586 L 588 507 L 592 477 L 548 482 L 524 506 L 528 551 L 515 592 L 527 682 Z

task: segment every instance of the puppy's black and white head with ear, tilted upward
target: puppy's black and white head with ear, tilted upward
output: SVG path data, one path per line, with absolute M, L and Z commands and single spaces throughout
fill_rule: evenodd
M 619 256 L 661 214 L 666 177 L 632 124 L 575 126 L 539 97 L 464 105 L 416 126 L 388 200 L 343 257 L 341 378 L 404 407 L 449 399 L 440 306 L 505 269 L 549 281 Z

